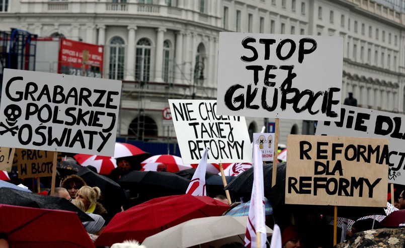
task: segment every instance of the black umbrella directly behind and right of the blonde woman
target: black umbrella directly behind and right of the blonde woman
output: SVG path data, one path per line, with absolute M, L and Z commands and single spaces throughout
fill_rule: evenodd
M 87 185 L 100 188 L 102 193 L 101 203 L 111 218 L 121 211 L 121 206 L 124 204 L 126 196 L 118 183 L 92 171 L 87 166 L 80 168 L 76 175 L 83 178 Z

